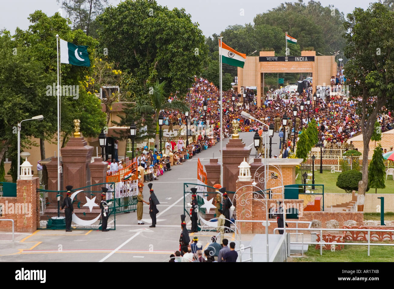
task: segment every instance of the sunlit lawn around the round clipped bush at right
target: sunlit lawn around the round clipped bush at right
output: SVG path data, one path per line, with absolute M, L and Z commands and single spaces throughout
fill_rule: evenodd
M 319 169 L 315 171 L 315 184 L 323 184 L 324 185 L 324 193 L 345 193 L 345 190 L 342 190 L 336 186 L 336 179 L 340 173 L 330 173 L 330 171 L 323 170 L 323 173 L 319 173 Z M 296 184 L 301 184 L 301 174 L 298 175 L 296 179 Z M 312 181 L 309 180 L 308 184 L 312 184 Z M 391 194 L 394 193 L 394 180 L 391 179 L 390 176 L 387 177 L 385 181 L 386 188 L 377 189 L 377 193 L 382 194 Z M 367 193 L 375 193 L 374 188 L 370 188 Z

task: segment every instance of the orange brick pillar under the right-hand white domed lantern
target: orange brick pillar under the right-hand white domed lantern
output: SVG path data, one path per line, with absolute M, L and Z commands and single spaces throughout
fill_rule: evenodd
M 253 194 L 254 188 L 252 186 L 253 180 L 236 181 L 236 196 L 234 197 L 234 206 L 236 206 L 236 214 L 238 220 L 253 220 Z M 250 185 L 250 186 L 248 186 Z M 242 188 L 243 187 L 243 188 Z M 240 190 L 238 190 L 241 188 Z M 235 201 L 236 200 L 236 201 Z M 247 217 L 248 215 L 248 217 Z M 239 222 L 237 224 L 241 230 L 241 234 L 253 234 L 253 223 Z

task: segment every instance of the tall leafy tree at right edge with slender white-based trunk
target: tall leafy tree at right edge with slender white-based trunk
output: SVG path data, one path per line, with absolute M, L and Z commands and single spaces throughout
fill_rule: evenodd
M 349 13 L 344 22 L 346 39 L 345 65 L 350 97 L 361 98 L 357 114 L 361 116 L 364 149 L 362 153 L 362 180 L 359 183 L 358 210 L 364 210 L 365 191 L 368 186 L 369 142 L 375 129 L 377 114 L 393 106 L 394 96 L 394 14 L 380 3 L 373 3 L 364 11 L 361 8 Z M 372 101 L 370 99 L 373 99 Z

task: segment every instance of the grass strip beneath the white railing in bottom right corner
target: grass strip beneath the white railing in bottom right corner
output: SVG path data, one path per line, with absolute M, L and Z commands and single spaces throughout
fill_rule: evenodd
M 389 242 L 387 242 L 389 243 Z M 391 242 L 390 242 L 391 243 Z M 346 244 L 346 243 L 345 243 Z M 368 257 L 368 247 L 358 245 L 345 245 L 345 248 L 335 252 L 323 250 L 320 256 L 320 249 L 315 249 L 315 245 L 309 245 L 309 249 L 304 253 L 304 258 L 292 258 L 294 262 L 394 262 L 394 246 L 371 246 Z

